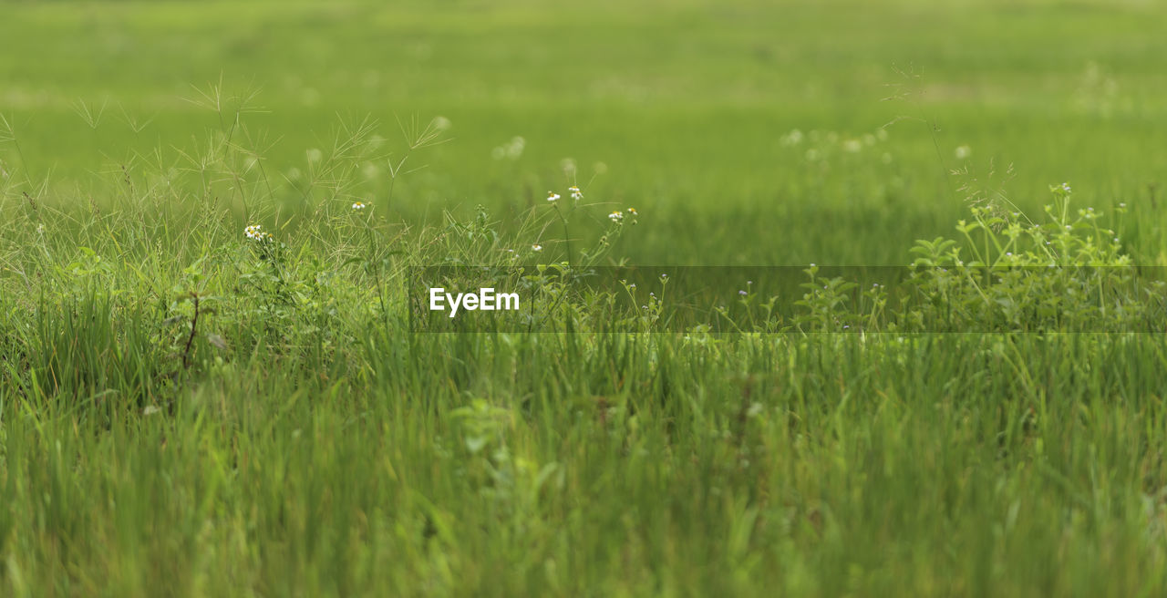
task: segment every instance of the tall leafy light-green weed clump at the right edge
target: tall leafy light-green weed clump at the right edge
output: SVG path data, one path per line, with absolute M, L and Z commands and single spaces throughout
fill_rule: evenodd
M 1071 217 L 1068 183 L 1050 190 L 1043 224 L 974 206 L 973 220 L 957 224 L 959 242 L 917 241 L 909 281 L 920 300 L 909 321 L 941 332 L 1154 331 L 1165 313 L 1162 280 L 1138 279 L 1093 208 Z

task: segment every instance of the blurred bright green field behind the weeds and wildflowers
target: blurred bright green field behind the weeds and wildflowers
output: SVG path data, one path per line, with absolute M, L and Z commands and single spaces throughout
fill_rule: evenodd
M 277 182 L 341 123 L 371 117 L 391 146 L 396 119 L 441 116 L 453 140 L 419 158 L 428 168 L 400 181 L 394 206 L 377 202 L 385 165 L 364 171 L 361 192 L 380 215 L 418 222 L 481 203 L 506 220 L 565 187 L 571 159 L 589 197 L 645 215 L 619 248 L 637 263 L 903 263 L 915 238 L 951 231 L 965 213 L 962 179 L 984 182 L 992 165 L 998 179 L 1014 166 L 1004 190 L 1026 209 L 1063 180 L 1078 206 L 1151 208 L 1167 167 L 1167 37 L 1148 27 L 1167 13 L 1158 2 L 4 11 L 0 113 L 33 176 L 53 173 L 76 196 L 93 195 L 93 172 L 160 146 L 196 148 L 218 120 L 190 100 L 221 81 L 229 95 L 258 91 L 263 112 L 244 118 Z M 79 112 L 102 116 L 91 127 Z M 127 123 L 148 124 L 135 133 Z M 847 152 L 889 123 L 886 140 Z M 794 130 L 803 142 L 784 145 Z M 515 137 L 520 157 L 491 158 Z M 12 144 L 0 158 L 20 164 Z M 963 167 L 965 178 L 948 174 Z M 1144 218 L 1153 225 L 1124 241 L 1160 259 L 1159 222 Z

